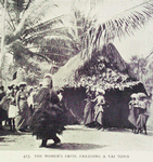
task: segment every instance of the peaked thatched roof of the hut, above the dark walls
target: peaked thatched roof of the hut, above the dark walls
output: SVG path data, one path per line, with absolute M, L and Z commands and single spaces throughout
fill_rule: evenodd
M 90 59 L 72 57 L 53 75 L 54 86 L 78 87 L 101 85 L 103 89 L 131 86 L 133 78 L 129 65 L 123 59 L 116 48 L 110 43 L 98 51 Z M 131 81 L 131 80 L 130 80 Z

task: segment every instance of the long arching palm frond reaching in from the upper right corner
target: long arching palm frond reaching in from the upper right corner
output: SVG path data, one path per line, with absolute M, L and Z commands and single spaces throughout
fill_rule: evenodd
M 126 10 L 106 22 L 91 27 L 84 39 L 84 48 L 97 50 L 116 37 L 120 39 L 127 35 L 131 36 L 137 29 L 143 27 L 152 16 L 153 0 Z M 91 53 L 88 54 L 91 55 Z

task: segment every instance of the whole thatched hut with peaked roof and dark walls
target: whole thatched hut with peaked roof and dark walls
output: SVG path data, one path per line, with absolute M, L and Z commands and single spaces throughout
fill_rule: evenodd
M 64 89 L 65 104 L 80 123 L 84 120 L 87 86 L 105 90 L 105 99 L 110 104 L 103 118 L 105 127 L 130 127 L 130 95 L 145 93 L 143 84 L 135 79 L 128 64 L 112 43 L 86 62 L 79 55 L 74 56 L 53 76 L 53 80 L 54 86 Z

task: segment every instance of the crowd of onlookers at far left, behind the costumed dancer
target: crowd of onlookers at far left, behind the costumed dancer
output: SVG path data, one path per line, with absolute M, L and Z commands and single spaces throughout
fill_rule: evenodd
M 9 123 L 10 131 L 24 132 L 27 130 L 28 119 L 35 109 L 34 103 L 38 89 L 39 86 L 37 86 L 37 89 L 27 89 L 26 82 L 21 82 L 17 85 L 10 84 L 7 91 L 4 91 L 3 85 L 1 85 L 0 130 L 3 130 L 2 121 L 5 121 L 5 124 Z M 31 97 L 31 93 L 33 99 L 30 99 L 30 103 L 29 98 Z

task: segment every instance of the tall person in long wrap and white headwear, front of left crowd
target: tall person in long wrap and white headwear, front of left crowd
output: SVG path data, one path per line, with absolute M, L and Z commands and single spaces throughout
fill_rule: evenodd
M 16 93 L 17 114 L 15 118 L 16 131 L 25 132 L 29 120 L 29 108 L 27 104 L 28 94 L 26 92 L 26 82 L 20 83 L 20 90 Z

